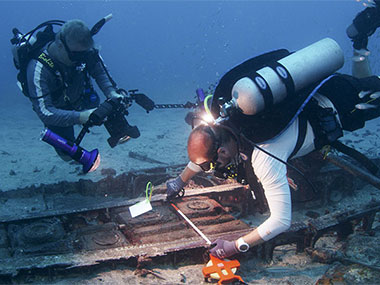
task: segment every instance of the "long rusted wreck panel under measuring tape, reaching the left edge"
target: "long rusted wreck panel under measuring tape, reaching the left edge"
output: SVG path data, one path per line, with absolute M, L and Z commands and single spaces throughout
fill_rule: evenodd
M 210 239 L 230 238 L 231 234 L 234 237 L 251 230 L 208 197 L 184 198 L 177 206 Z M 153 211 L 136 218 L 131 218 L 128 207 L 116 207 L 9 223 L 6 228 L 0 228 L 0 275 L 206 247 L 204 240 L 164 201 L 153 202 Z

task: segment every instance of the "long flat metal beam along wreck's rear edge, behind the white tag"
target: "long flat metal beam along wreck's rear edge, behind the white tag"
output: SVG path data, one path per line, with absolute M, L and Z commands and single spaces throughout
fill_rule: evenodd
M 154 193 L 165 193 L 166 189 L 162 183 L 177 172 L 180 172 L 179 167 L 174 169 L 162 167 L 148 169 L 144 173 L 131 172 L 117 177 L 107 177 L 96 183 L 90 180 L 80 180 L 72 183 L 60 182 L 53 185 L 0 192 L 2 205 L 0 223 L 131 206 L 142 199 L 138 197 L 145 196 L 147 182 L 150 181 L 157 186 Z M 195 188 L 187 189 L 186 196 L 215 192 L 216 195 L 223 197 L 228 193 L 231 195 L 235 190 L 238 192 L 235 191 L 234 195 L 239 194 L 241 190 L 247 191 L 246 187 L 238 183 L 216 185 L 207 177 L 200 178 L 197 180 L 206 186 L 215 186 L 199 188 L 205 187 L 205 185 L 192 183 Z M 153 197 L 153 201 L 165 199 L 165 194 Z M 236 204 L 240 205 L 241 203 Z

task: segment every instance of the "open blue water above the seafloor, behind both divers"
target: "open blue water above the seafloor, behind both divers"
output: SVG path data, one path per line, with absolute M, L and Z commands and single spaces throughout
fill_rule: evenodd
M 342 71 L 350 72 L 345 29 L 363 6 L 354 0 L 1 1 L 0 8 L 0 104 L 30 108 L 15 84 L 14 27 L 26 32 L 46 20 L 74 18 L 91 27 L 112 13 L 95 41 L 119 87 L 138 88 L 156 103 L 185 103 L 196 88 L 208 89 L 247 58 L 297 50 L 324 37 L 340 44 L 347 61 Z M 376 51 L 376 35 L 372 46 Z

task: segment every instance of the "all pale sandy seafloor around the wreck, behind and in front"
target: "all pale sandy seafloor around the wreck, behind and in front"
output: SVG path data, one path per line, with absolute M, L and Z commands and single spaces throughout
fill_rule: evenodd
M 25 99 L 26 100 L 26 99 Z M 21 101 L 21 100 L 18 100 Z M 157 102 L 160 103 L 160 102 Z M 165 102 L 166 103 L 166 102 Z M 69 164 L 60 160 L 52 147 L 39 140 L 42 123 L 28 108 L 28 102 L 21 101 L 22 108 L 9 109 L 0 106 L 0 190 L 8 191 L 40 183 L 50 184 L 58 181 L 77 181 L 84 178 L 78 165 Z M 143 169 L 160 166 L 128 156 L 129 151 L 147 155 L 155 160 L 179 164 L 187 162 L 186 141 L 191 130 L 184 122 L 187 110 L 154 110 L 146 114 L 138 106 L 130 110 L 128 120 L 131 125 L 137 125 L 141 137 L 131 140 L 124 145 L 111 149 L 107 142 L 105 128 L 94 127 L 87 134 L 82 146 L 91 150 L 97 147 L 101 153 L 101 164 L 93 173 L 85 178 L 94 181 L 103 178 L 103 168 L 113 168 L 117 174 L 132 169 Z M 77 129 L 79 131 L 79 128 Z M 380 120 L 369 123 L 365 129 L 345 136 L 343 142 L 354 145 L 358 150 L 370 157 L 380 155 Z M 349 206 L 380 199 L 380 190 L 364 185 L 356 189 L 353 196 L 346 197 L 339 203 L 329 206 L 329 210 L 346 209 Z M 307 218 L 304 213 L 308 209 L 294 211 L 294 220 Z M 312 209 L 314 211 L 321 209 Z M 323 214 L 323 213 L 321 213 Z M 246 222 L 258 225 L 264 216 L 249 216 Z M 369 264 L 379 264 L 380 259 L 380 219 L 379 214 L 374 223 L 375 233 L 368 236 L 365 233 L 356 233 L 349 237 L 345 247 L 348 254 L 356 260 Z M 324 248 L 339 248 L 343 243 L 335 242 L 335 237 L 327 237 L 317 243 Z M 347 253 L 347 251 L 346 251 Z M 370 258 L 372 256 L 372 258 Z M 135 268 L 117 266 L 103 268 L 93 272 L 82 272 L 55 278 L 31 277 L 28 282 L 36 284 L 206 284 L 201 273 L 204 264 L 153 264 L 150 269 L 161 278 L 148 274 L 141 277 L 135 274 Z M 241 260 L 239 274 L 249 284 L 315 284 L 328 270 L 340 265 L 322 264 L 313 262 L 306 254 L 295 254 L 295 246 L 289 245 L 277 248 L 274 260 L 268 264 L 262 260 L 251 258 Z M 380 280 L 376 271 L 369 271 L 365 267 L 351 265 L 345 267 L 346 283 L 330 284 L 375 284 Z M 377 276 L 377 278 L 376 278 Z M 347 282 L 348 280 L 348 282 Z M 23 280 L 14 280 L 23 283 Z M 380 282 L 380 281 L 379 281 Z

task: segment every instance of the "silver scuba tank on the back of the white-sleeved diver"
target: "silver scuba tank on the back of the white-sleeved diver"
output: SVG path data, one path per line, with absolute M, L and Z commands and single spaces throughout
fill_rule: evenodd
M 322 39 L 238 80 L 232 88 L 232 99 L 223 104 L 220 115 L 227 117 L 233 110 L 258 114 L 331 75 L 343 63 L 339 45 L 330 38 Z

